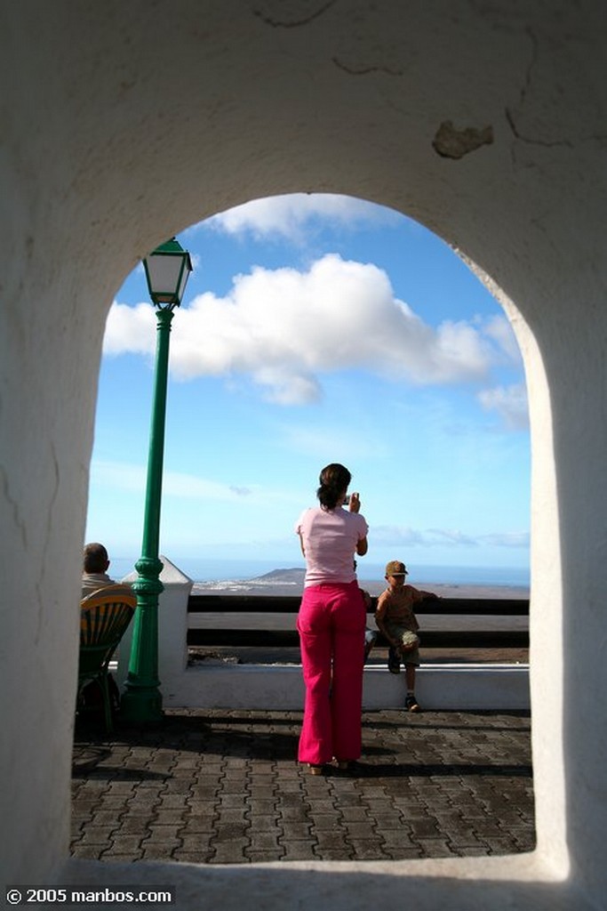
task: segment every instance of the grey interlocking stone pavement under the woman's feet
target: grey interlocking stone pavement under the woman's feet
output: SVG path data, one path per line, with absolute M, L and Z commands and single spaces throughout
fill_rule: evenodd
M 167 711 L 106 739 L 78 722 L 72 854 L 249 864 L 535 846 L 528 713 L 365 712 L 352 776 L 295 762 L 300 723 L 294 711 Z

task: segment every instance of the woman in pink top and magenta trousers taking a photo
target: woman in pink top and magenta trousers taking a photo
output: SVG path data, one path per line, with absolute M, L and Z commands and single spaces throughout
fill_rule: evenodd
M 369 531 L 358 494 L 343 508 L 348 468 L 328 465 L 319 480 L 320 506 L 306 509 L 295 527 L 306 558 L 298 614 L 306 685 L 298 759 L 313 774 L 333 759 L 348 768 L 360 755 L 366 610 L 354 555 L 367 553 Z

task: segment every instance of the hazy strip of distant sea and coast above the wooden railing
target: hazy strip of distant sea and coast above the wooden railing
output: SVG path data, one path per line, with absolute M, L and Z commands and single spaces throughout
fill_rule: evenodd
M 174 558 L 171 562 L 195 583 L 195 591 L 238 591 L 240 594 L 248 589 L 272 589 L 283 594 L 284 589 L 292 588 L 294 593 L 300 589 L 304 565 L 281 565 L 276 560 L 217 560 L 206 558 Z M 125 578 L 135 568 L 137 558 L 112 558 L 109 569 L 113 578 Z M 508 597 L 510 589 L 529 589 L 530 571 L 524 567 L 491 567 L 491 566 L 444 566 L 439 564 L 408 564 L 412 585 L 440 586 L 440 588 L 491 588 L 507 589 L 503 592 Z M 359 561 L 359 581 L 374 583 L 373 587 L 384 584 L 385 564 L 373 564 Z

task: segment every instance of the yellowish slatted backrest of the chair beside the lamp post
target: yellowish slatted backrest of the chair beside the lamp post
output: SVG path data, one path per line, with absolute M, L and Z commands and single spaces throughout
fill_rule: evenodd
M 133 617 L 137 598 L 126 585 L 108 585 L 82 599 L 80 606 L 82 675 L 110 660 Z

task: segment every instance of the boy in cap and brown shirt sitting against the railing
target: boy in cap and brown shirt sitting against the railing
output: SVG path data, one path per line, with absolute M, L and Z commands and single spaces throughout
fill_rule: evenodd
M 407 682 L 407 711 L 421 711 L 415 698 L 415 669 L 420 667 L 420 629 L 418 619 L 413 612 L 416 601 L 424 598 L 436 598 L 431 591 L 420 591 L 412 585 L 405 585 L 408 576 L 407 567 L 400 560 L 390 560 L 386 566 L 388 588 L 379 595 L 375 611 L 375 622 L 379 630 L 389 641 L 388 670 L 400 673 L 400 658 L 405 665 Z

